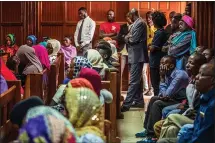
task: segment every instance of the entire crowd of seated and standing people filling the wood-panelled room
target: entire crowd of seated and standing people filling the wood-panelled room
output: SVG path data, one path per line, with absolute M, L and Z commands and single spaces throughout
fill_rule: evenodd
M 24 45 L 17 46 L 15 35 L 8 34 L 0 47 L 2 55 L 10 54 L 6 64 L 0 61 L 1 94 L 8 90 L 6 80 L 17 79 L 23 94 L 28 74 L 49 70 L 58 53 L 65 56 L 66 78 L 49 106 L 32 96 L 13 107 L 10 120 L 20 128 L 16 141 L 105 142 L 100 114 L 113 96 L 102 89 L 101 81 L 106 69 L 117 70 L 120 52 L 121 76 L 126 63 L 130 73 L 121 112 L 144 108 L 143 95 L 154 94 L 146 107 L 144 130 L 135 135 L 144 138 L 138 143 L 213 143 L 214 48 L 197 46 L 189 6 L 184 14 L 171 12 L 169 25 L 163 12 L 149 11 L 143 20 L 132 9 L 125 15 L 127 23 L 120 26 L 109 10 L 94 47 L 96 24 L 84 7 L 78 10 L 75 45 L 71 36 L 62 42 L 50 37 L 39 42 L 29 35 Z

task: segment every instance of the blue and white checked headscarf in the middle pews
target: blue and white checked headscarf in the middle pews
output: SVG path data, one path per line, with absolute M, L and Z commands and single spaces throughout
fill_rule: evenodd
M 84 57 L 77 56 L 73 59 L 73 61 L 74 61 L 73 78 L 78 77 L 81 68 L 92 68 L 92 64 L 90 63 L 90 61 Z

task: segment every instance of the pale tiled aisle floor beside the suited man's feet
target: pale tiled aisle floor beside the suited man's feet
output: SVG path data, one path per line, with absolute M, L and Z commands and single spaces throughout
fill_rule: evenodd
M 126 93 L 122 93 L 125 97 Z M 145 109 L 152 96 L 144 96 L 145 108 L 131 108 L 128 112 L 123 113 L 124 119 L 118 120 L 118 130 L 120 133 L 121 143 L 136 143 L 141 138 L 136 138 L 135 134 L 143 130 L 143 121 Z

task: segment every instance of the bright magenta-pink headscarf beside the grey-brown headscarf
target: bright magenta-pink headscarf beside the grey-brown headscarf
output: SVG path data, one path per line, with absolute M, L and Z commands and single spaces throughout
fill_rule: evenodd
M 34 45 L 36 56 L 40 60 L 40 63 L 44 68 L 50 69 L 50 61 L 48 56 L 48 51 L 42 45 Z

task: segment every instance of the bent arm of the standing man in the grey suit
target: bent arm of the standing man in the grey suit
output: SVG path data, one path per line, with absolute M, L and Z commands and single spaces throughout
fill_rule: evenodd
M 128 39 L 129 44 L 134 44 L 141 41 L 141 38 L 143 38 L 143 34 L 146 36 L 146 25 L 143 22 L 139 22 L 136 27 L 132 28 L 131 37 Z

